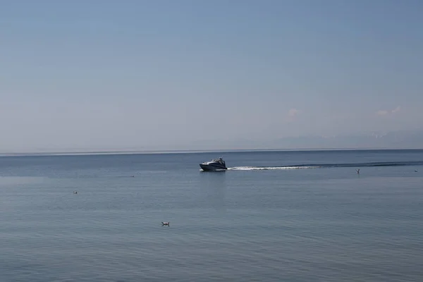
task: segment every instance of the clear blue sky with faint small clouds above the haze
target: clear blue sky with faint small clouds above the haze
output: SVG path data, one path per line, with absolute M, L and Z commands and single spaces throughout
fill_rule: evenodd
M 418 0 L 0 0 L 0 150 L 423 128 Z

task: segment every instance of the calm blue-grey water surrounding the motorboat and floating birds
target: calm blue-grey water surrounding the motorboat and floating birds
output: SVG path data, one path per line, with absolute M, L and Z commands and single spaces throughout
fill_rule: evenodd
M 423 281 L 422 173 L 423 150 L 0 157 L 0 281 Z

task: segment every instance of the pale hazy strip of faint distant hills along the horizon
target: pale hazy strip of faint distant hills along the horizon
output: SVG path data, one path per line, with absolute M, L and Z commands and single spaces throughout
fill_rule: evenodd
M 221 140 L 173 145 L 173 148 L 150 147 L 38 147 L 30 150 L 0 149 L 0 154 L 85 154 L 137 152 L 234 152 L 234 151 L 304 151 L 360 149 L 423 149 L 423 130 L 398 131 L 382 135 L 300 136 L 279 140 L 232 140 L 221 147 Z M 217 146 L 216 146 L 217 144 Z

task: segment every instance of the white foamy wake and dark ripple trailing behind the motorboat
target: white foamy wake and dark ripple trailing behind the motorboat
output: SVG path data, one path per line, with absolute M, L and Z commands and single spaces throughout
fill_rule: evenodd
M 228 168 L 230 171 L 266 171 L 300 168 L 343 168 L 343 167 L 372 167 L 372 166 L 423 166 L 423 161 L 379 161 L 368 163 L 347 164 L 297 164 L 293 166 L 235 166 Z

